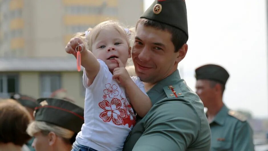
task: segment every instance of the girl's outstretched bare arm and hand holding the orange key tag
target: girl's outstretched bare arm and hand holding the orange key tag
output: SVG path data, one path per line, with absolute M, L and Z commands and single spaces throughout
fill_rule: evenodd
M 83 48 L 83 51 L 81 52 L 81 65 L 85 68 L 89 86 L 92 84 L 100 70 L 100 63 L 92 54 L 92 52 L 86 50 L 84 42 L 80 38 L 72 38 L 66 45 L 65 51 L 69 54 L 73 54 L 76 57 L 75 48 L 76 46 L 78 46 L 78 42 L 80 44 L 79 50 L 81 51 L 81 49 Z

